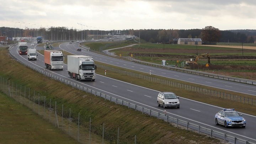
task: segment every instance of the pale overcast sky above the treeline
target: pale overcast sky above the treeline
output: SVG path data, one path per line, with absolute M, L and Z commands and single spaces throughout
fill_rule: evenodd
M 0 27 L 3 26 L 256 29 L 256 0 L 0 0 Z

